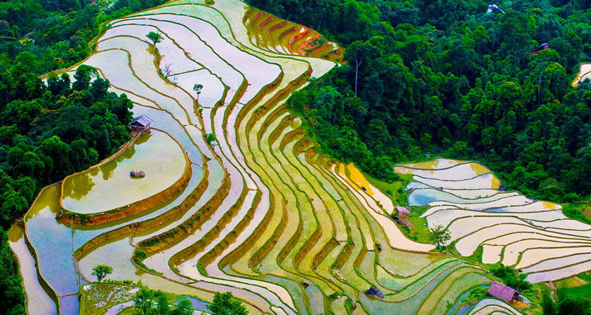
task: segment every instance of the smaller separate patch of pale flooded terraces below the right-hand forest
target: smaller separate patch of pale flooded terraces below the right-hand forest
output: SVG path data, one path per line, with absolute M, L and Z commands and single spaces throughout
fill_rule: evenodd
M 428 206 L 422 214 L 427 224 L 449 230 L 449 244 L 460 255 L 470 256 L 482 246 L 482 262 L 522 269 L 532 283 L 591 268 L 591 225 L 567 218 L 559 204 L 499 191 L 496 176 L 475 162 L 434 164 L 394 170 L 413 174 L 409 204 Z

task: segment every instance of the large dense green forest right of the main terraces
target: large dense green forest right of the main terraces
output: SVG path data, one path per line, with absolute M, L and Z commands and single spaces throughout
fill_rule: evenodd
M 526 195 L 591 197 L 591 85 L 571 86 L 591 61 L 590 1 L 249 3 L 347 47 L 288 102 L 334 158 L 386 179 L 425 154 L 473 158 Z

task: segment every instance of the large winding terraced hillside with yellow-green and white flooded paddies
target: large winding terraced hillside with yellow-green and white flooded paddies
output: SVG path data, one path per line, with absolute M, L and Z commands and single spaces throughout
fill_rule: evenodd
M 181 0 L 109 23 L 82 64 L 126 93 L 135 115 L 154 120 L 154 135 L 133 145 L 149 148 L 142 158 L 175 161 L 145 164 L 146 178 L 134 181 L 159 178 L 166 163 L 175 163 L 175 176 L 150 193 L 129 193 L 117 176 L 129 163 L 117 162 L 113 172 L 79 176 L 85 189 L 75 202 L 64 195 L 68 181 L 45 188 L 11 243 L 28 300 L 55 302 L 41 311 L 30 303 L 31 314 L 76 314 L 77 293 L 100 264 L 114 268 L 109 279 L 204 301 L 230 291 L 251 314 L 391 314 L 393 307 L 446 314 L 468 290 L 491 283 L 480 267 L 404 237 L 383 193 L 353 165 L 317 153 L 284 102 L 338 66 L 342 51 L 323 43 L 314 52 L 314 31 L 300 27 L 307 35 L 287 40 L 293 24 L 262 18 L 270 17 L 241 1 Z M 163 37 L 155 47 L 150 31 Z M 181 150 L 171 143 L 164 150 L 155 140 L 165 136 Z M 102 203 L 97 176 L 121 187 L 103 192 Z M 371 286 L 384 297 L 364 294 Z M 492 301 L 479 307 L 510 309 Z

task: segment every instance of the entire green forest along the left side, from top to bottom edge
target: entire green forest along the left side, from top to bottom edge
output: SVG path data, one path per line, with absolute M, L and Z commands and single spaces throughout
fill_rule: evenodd
M 18 262 L 6 231 L 39 190 L 107 158 L 129 140 L 131 101 L 107 92 L 98 72 L 80 66 L 103 22 L 163 0 L 0 1 L 0 309 L 25 314 Z M 72 81 L 75 81 L 72 83 Z

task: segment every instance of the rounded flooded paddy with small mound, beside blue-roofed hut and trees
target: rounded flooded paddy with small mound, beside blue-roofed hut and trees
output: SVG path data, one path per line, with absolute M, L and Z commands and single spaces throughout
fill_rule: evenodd
M 154 147 L 159 148 L 156 156 Z M 62 183 L 61 206 L 72 212 L 92 214 L 132 204 L 173 186 L 182 176 L 184 164 L 183 151 L 168 134 L 144 134 L 114 160 L 68 176 Z M 133 169 L 144 170 L 145 178 L 131 178 L 129 171 Z M 113 190 L 126 193 L 105 200 L 105 195 Z

